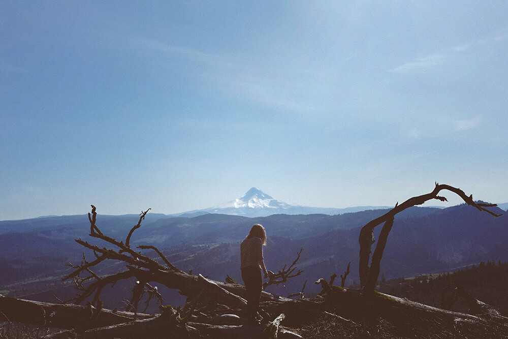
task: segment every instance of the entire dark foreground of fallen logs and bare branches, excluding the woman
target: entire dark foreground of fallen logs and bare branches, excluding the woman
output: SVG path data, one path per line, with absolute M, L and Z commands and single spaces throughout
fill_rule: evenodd
M 508 338 L 508 318 L 469 295 L 459 284 L 456 284 L 454 295 L 467 301 L 467 314 L 438 309 L 374 290 L 379 263 L 395 215 L 430 199 L 446 200 L 437 195 L 442 190 L 454 192 L 467 204 L 494 217 L 499 216 L 486 209 L 495 204 L 476 203 L 472 196 L 466 196 L 461 190 L 436 183 L 431 193 L 397 204 L 362 228 L 359 239 L 362 290 L 333 286 L 334 275 L 330 282 L 323 278 L 315 282 L 321 284 L 322 292 L 312 299 L 303 297 L 303 289 L 295 295 L 299 296 L 297 300 L 263 292 L 260 305 L 263 320 L 259 324 L 249 325 L 243 318 L 246 290 L 229 276 L 226 283 L 212 281 L 201 274 L 196 276 L 178 269 L 154 246 L 140 245 L 137 248 L 154 251 L 157 259 L 131 248 L 131 236 L 141 226 L 148 210 L 141 212 L 138 224 L 131 229 L 125 241 L 118 241 L 101 232 L 96 225 L 96 207 L 92 205 L 91 213 L 88 213 L 90 237 L 106 242 L 110 248 L 76 240 L 94 256 L 92 261 L 87 261 L 83 256 L 81 264 L 69 264 L 74 271 L 62 279 L 75 283 L 77 296 L 61 304 L 0 296 L 0 321 L 7 322 L 8 326 L 23 323 L 64 330 L 48 334 L 46 338 Z M 373 229 L 383 223 L 372 253 Z M 300 274 L 301 270 L 295 271 L 300 253 L 301 250 L 293 264 L 279 270 L 268 285 L 284 283 Z M 92 269 L 107 260 L 123 262 L 126 270 L 106 277 L 94 273 Z M 341 275 L 342 286 L 348 272 L 349 266 Z M 103 309 L 103 288 L 131 278 L 136 278 L 137 283 L 126 311 L 133 313 Z M 152 299 L 163 303 L 157 287 L 151 285 L 153 283 L 179 290 L 187 297 L 186 304 L 177 309 L 161 306 L 161 314 L 157 315 L 138 313 L 143 297 L 148 298 L 147 305 Z M 87 302 L 86 306 L 79 305 L 84 302 Z

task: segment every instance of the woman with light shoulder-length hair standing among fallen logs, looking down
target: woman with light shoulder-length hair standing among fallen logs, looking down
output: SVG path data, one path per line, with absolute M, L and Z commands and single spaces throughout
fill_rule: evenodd
M 263 286 L 261 269 L 268 278 L 272 272 L 266 270 L 263 261 L 263 245 L 266 245 L 265 228 L 259 224 L 252 226 L 249 234 L 240 244 L 242 279 L 247 290 L 247 319 L 255 322 Z

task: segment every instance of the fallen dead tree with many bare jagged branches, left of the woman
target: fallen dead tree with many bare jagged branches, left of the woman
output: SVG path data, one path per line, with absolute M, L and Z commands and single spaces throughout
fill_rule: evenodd
M 187 296 L 187 300 L 193 300 L 198 296 L 203 290 L 210 290 L 211 285 L 207 283 L 207 280 L 198 279 L 197 276 L 188 274 L 177 267 L 175 267 L 171 262 L 164 256 L 164 254 L 156 249 L 154 246 L 145 246 L 140 245 L 137 246 L 137 249 L 150 249 L 153 250 L 160 260 L 152 259 L 147 255 L 142 254 L 141 252 L 136 251 L 131 248 L 130 240 L 133 232 L 140 228 L 141 222 L 145 218 L 146 211 L 142 211 L 140 213 L 139 222 L 135 225 L 129 232 L 128 236 L 125 239 L 125 242 L 118 241 L 114 238 L 111 238 L 104 233 L 101 232 L 99 227 L 97 226 L 97 212 L 96 207 L 91 206 L 91 212 L 88 213 L 88 220 L 90 222 L 90 236 L 94 238 L 98 238 L 100 240 L 108 243 L 112 248 L 101 247 L 99 245 L 90 244 L 88 241 L 82 239 L 76 239 L 76 242 L 84 246 L 85 248 L 91 250 L 93 255 L 95 256 L 94 260 L 87 261 L 83 255 L 83 259 L 81 264 L 73 265 L 68 263 L 74 270 L 68 274 L 67 276 L 62 278 L 62 281 L 74 281 L 76 288 L 78 289 L 78 295 L 68 300 L 69 302 L 74 302 L 76 304 L 81 304 L 86 300 L 91 300 L 91 304 L 97 306 L 100 301 L 100 295 L 103 288 L 107 285 L 114 286 L 116 282 L 124 279 L 135 278 L 137 280 L 136 285 L 133 288 L 133 294 L 131 301 L 127 307 L 128 310 L 132 310 L 134 312 L 137 311 L 138 303 L 141 297 L 144 294 L 147 294 L 150 299 L 155 299 L 158 302 L 162 303 L 162 297 L 158 294 L 157 289 L 151 285 L 151 283 L 161 284 L 170 289 L 180 290 L 180 293 Z M 298 258 L 300 256 L 301 250 L 298 253 Z M 282 271 L 279 271 L 277 275 L 277 280 L 274 280 L 272 283 L 277 284 L 281 282 L 287 281 L 287 279 L 292 278 L 301 273 L 301 271 L 294 272 L 294 265 L 298 261 L 295 260 L 293 264 L 286 269 L 285 266 Z M 115 260 L 125 263 L 126 270 L 111 274 L 105 277 L 101 277 L 96 274 L 92 269 L 96 267 L 98 264 L 104 262 L 105 260 Z M 245 298 L 245 288 L 239 284 L 225 284 L 220 282 L 214 282 L 214 285 L 224 289 L 230 293 L 233 293 L 240 298 Z M 212 293 L 206 293 L 208 297 L 217 293 L 217 289 L 212 288 Z M 232 306 L 238 306 L 238 301 L 232 298 L 227 298 L 226 301 L 222 302 L 232 302 Z M 262 301 L 267 300 L 289 300 L 287 298 L 279 297 L 272 295 L 270 293 L 266 293 L 263 291 L 261 295 Z

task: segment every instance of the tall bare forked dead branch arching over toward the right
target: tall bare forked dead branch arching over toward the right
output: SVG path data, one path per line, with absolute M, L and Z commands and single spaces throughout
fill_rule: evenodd
M 485 211 L 494 215 L 494 217 L 499 217 L 498 214 L 489 211 L 485 207 L 493 207 L 497 206 L 497 204 L 484 204 L 477 203 L 473 201 L 472 195 L 467 196 L 462 190 L 446 185 L 446 184 L 438 184 L 436 182 L 436 187 L 434 190 L 428 194 L 424 194 L 418 197 L 412 197 L 402 204 L 396 204 L 393 209 L 385 213 L 379 218 L 376 218 L 370 221 L 368 224 L 362 227 L 360 231 L 360 264 L 359 264 L 359 273 L 360 273 L 360 285 L 362 289 L 367 293 L 374 292 L 374 288 L 377 283 L 377 278 L 379 276 L 380 271 L 380 261 L 383 257 L 383 252 L 385 251 L 386 241 L 388 239 L 388 234 L 390 233 L 395 215 L 406 208 L 421 205 L 428 200 L 437 199 L 440 201 L 447 201 L 446 198 L 438 196 L 439 192 L 442 190 L 451 191 L 457 194 L 459 197 L 464 200 L 468 205 L 474 206 L 478 208 L 480 211 Z M 379 238 L 377 240 L 377 245 L 374 250 L 374 253 L 371 252 L 371 246 L 374 243 L 374 228 L 380 224 L 383 224 L 383 228 L 379 233 Z M 369 266 L 369 259 L 372 253 L 372 261 Z

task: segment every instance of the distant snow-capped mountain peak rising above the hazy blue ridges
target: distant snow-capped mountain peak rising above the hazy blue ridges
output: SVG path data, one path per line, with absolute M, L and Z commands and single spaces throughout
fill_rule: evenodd
M 242 215 L 244 217 L 267 217 L 272 214 L 342 214 L 347 212 L 357 212 L 367 209 L 388 208 L 385 206 L 359 206 L 349 208 L 323 208 L 306 207 L 294 204 L 288 204 L 272 198 L 263 191 L 252 187 L 241 198 L 219 204 L 215 207 L 193 210 L 185 215 L 199 215 L 204 213 L 218 213 L 230 215 Z M 180 215 L 183 215 L 180 214 Z

